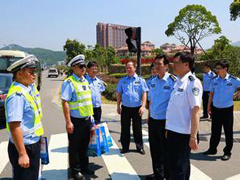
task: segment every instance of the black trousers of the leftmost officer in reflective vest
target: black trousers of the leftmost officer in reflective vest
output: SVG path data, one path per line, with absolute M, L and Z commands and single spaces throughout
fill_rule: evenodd
M 13 180 L 38 180 L 40 165 L 40 141 L 34 144 L 25 145 L 30 167 L 22 168 L 18 164 L 18 151 L 13 143 L 8 143 L 8 156 L 13 167 Z

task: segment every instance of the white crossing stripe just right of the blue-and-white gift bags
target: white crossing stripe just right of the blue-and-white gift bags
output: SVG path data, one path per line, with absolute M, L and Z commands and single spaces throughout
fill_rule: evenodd
M 103 154 L 102 158 L 112 180 L 140 180 L 139 176 L 132 168 L 127 158 L 120 153 L 117 144 L 112 139 L 113 146 L 108 154 Z

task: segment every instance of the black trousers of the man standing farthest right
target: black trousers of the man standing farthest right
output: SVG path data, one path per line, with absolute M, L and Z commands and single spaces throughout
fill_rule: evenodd
M 210 150 L 217 150 L 221 139 L 222 126 L 226 138 L 224 154 L 231 155 L 233 147 L 233 106 L 229 108 L 212 107 L 212 134 L 210 139 Z

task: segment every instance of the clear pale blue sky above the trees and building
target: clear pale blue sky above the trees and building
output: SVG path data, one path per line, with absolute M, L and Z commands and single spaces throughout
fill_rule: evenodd
M 167 37 L 168 24 L 188 4 L 201 4 L 217 17 L 222 33 L 203 39 L 204 49 L 225 35 L 240 41 L 240 19 L 230 21 L 233 0 L 0 0 L 0 48 L 9 44 L 62 51 L 67 39 L 96 44 L 98 22 L 142 28 L 142 42 L 156 47 L 180 42 Z

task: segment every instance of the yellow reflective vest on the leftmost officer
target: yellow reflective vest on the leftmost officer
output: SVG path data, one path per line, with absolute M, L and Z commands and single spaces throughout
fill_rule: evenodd
M 29 104 L 31 105 L 33 112 L 34 112 L 34 126 L 31 129 L 23 131 L 23 135 L 28 135 L 33 132 L 36 136 L 43 135 L 44 131 L 43 131 L 42 122 L 41 122 L 41 104 L 38 104 L 38 102 L 36 100 L 34 100 L 34 97 L 31 96 L 24 88 L 22 88 L 20 86 L 15 86 L 13 84 L 11 85 L 9 92 L 7 94 L 6 101 L 5 101 L 5 109 L 6 109 L 6 102 L 7 102 L 8 98 L 10 96 L 14 95 L 15 93 L 21 93 L 26 98 L 26 100 L 29 102 Z M 5 114 L 7 117 L 6 110 L 5 110 Z M 8 123 L 6 124 L 6 126 L 7 126 L 7 130 L 10 131 Z

